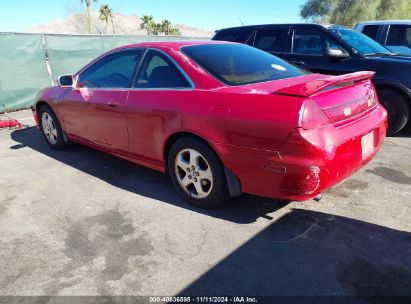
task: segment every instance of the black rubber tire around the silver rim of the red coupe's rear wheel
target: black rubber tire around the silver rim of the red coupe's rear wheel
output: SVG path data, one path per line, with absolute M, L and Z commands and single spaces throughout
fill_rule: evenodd
M 183 151 L 187 149 L 192 149 L 200 153 L 201 157 L 203 157 L 206 161 L 206 165 L 210 167 L 212 173 L 212 187 L 209 189 L 209 194 L 205 198 L 197 198 L 193 196 L 193 194 L 187 193 L 187 188 L 184 190 L 184 186 L 180 184 L 179 177 L 177 174 L 176 169 L 176 160 L 177 156 L 181 155 Z M 171 180 L 176 188 L 177 192 L 190 204 L 200 207 L 200 208 L 214 208 L 222 203 L 224 203 L 228 197 L 228 187 L 227 187 L 227 180 L 224 174 L 224 167 L 216 155 L 216 153 L 203 141 L 191 137 L 191 136 L 184 136 L 179 138 L 171 147 L 168 156 L 167 156 L 167 165 L 168 165 L 168 172 L 170 174 Z M 187 165 L 189 166 L 189 165 Z M 200 172 L 200 171 L 199 171 Z M 186 172 L 183 172 L 186 174 Z M 195 174 L 195 173 L 193 173 Z M 181 177 L 180 177 L 181 179 Z M 203 180 L 199 180 L 202 182 Z M 197 182 L 197 180 L 196 180 Z M 193 188 L 194 182 L 192 182 Z M 198 184 L 197 184 L 198 186 Z M 201 186 L 203 187 L 203 186 Z

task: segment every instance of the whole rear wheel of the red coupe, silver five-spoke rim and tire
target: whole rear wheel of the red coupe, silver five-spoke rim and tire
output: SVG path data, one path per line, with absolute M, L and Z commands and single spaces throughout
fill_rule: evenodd
M 215 152 L 194 137 L 182 137 L 168 154 L 168 171 L 178 193 L 192 205 L 212 208 L 228 198 L 224 168 Z

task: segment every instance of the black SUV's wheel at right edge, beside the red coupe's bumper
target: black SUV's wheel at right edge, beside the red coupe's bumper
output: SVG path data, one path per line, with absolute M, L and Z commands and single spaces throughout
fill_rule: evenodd
M 410 107 L 400 93 L 389 90 L 378 90 L 378 99 L 388 113 L 388 135 L 400 132 L 408 123 Z

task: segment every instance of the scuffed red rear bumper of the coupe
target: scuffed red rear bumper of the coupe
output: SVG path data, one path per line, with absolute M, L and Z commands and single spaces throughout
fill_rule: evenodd
M 378 105 L 351 124 L 297 128 L 278 151 L 216 146 L 224 165 L 240 180 L 243 192 L 301 201 L 365 166 L 381 148 L 386 129 L 386 111 Z

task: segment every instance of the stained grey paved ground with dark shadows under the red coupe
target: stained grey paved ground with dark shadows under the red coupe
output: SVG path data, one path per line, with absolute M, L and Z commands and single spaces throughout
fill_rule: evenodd
M 0 130 L 0 172 L 3 296 L 411 296 L 410 131 L 320 202 L 196 209 L 163 174 L 53 151 L 35 127 Z

